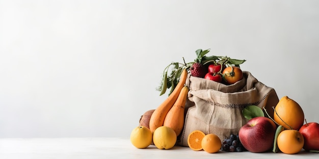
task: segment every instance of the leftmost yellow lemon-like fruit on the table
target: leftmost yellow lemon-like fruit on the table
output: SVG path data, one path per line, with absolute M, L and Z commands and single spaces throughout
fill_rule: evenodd
M 146 148 L 152 143 L 152 132 L 146 126 L 137 126 L 130 134 L 130 141 L 137 148 Z

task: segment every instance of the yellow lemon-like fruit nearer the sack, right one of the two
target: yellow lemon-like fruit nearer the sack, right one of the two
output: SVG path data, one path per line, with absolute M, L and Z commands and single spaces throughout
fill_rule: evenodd
M 170 149 L 176 141 L 175 131 L 168 126 L 159 126 L 153 133 L 153 143 L 158 149 Z

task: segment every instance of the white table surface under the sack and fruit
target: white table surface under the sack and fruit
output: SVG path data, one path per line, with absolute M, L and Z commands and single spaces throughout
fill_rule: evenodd
M 224 152 L 207 153 L 174 146 L 160 150 L 154 145 L 138 149 L 128 138 L 26 138 L 0 139 L 0 158 L 319 158 L 319 153 L 298 154 Z

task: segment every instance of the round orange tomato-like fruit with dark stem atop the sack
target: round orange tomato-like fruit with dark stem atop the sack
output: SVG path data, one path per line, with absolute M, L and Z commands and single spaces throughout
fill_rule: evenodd
M 224 69 L 223 77 L 228 84 L 234 84 L 243 78 L 243 71 L 235 66 L 230 66 Z

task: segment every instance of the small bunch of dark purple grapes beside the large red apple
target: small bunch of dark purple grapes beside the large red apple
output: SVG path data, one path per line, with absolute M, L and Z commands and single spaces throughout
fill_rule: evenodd
M 235 134 L 231 134 L 228 139 L 226 138 L 223 140 L 221 150 L 226 152 L 247 151 L 245 147 L 242 145 L 238 135 Z

